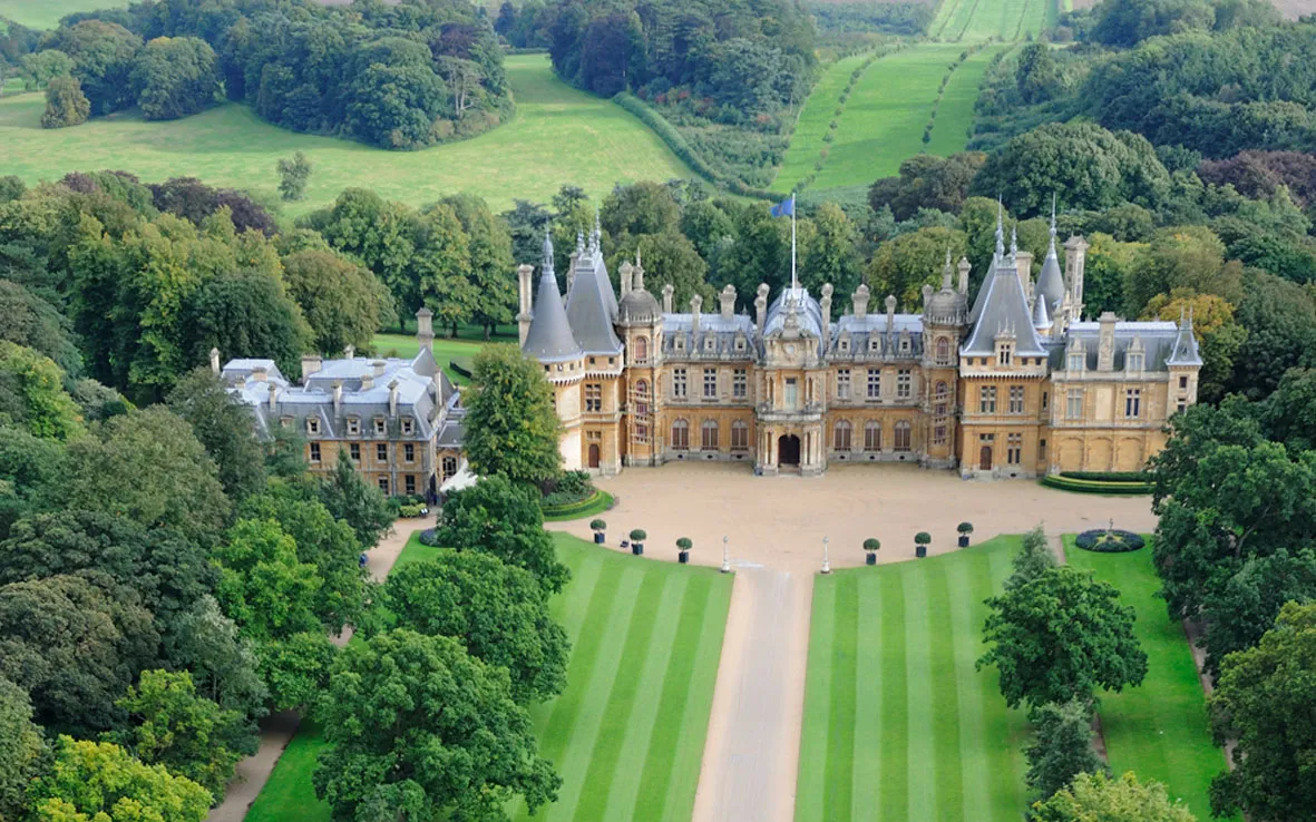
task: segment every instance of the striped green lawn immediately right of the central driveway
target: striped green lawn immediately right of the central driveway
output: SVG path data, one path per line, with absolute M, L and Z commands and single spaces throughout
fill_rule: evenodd
M 796 822 L 1017 822 L 1026 725 L 978 672 L 1019 538 L 813 587 Z

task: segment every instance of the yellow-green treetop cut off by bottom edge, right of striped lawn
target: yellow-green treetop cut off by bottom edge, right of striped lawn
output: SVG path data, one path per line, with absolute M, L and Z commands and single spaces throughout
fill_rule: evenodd
M 1142 784 L 1132 772 L 1117 780 L 1105 773 L 1079 773 L 1074 784 L 1033 806 L 1037 822 L 1196 822 L 1180 802 L 1171 802 L 1161 783 Z

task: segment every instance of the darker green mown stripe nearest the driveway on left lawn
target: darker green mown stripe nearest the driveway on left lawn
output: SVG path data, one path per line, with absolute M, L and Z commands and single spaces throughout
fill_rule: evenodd
M 658 722 L 654 725 L 649 751 L 645 754 L 633 822 L 658 822 L 663 818 L 663 806 L 667 802 L 667 789 L 672 781 L 672 765 L 678 754 L 680 717 L 686 713 L 688 685 L 695 671 L 697 634 L 711 598 L 709 588 L 707 576 L 692 577 L 680 604 L 676 644 L 672 647 L 667 675 L 663 677 L 662 696 L 658 697 Z M 707 713 L 704 721 L 708 721 Z

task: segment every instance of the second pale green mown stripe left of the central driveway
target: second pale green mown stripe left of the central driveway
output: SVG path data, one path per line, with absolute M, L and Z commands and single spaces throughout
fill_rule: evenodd
M 640 780 L 645 772 L 645 756 L 653 740 L 654 723 L 658 721 L 658 694 L 662 689 L 672 647 L 676 643 L 676 621 L 671 614 L 679 614 L 682 601 L 690 589 L 686 575 L 665 575 L 662 601 L 654 613 L 645 614 L 654 622 L 653 637 L 649 641 L 649 655 L 640 673 L 641 694 L 632 708 L 626 744 L 617 758 L 617 769 L 612 777 L 612 790 L 608 792 L 608 805 L 604 819 L 629 819 L 634 815 L 636 797 L 640 794 Z

